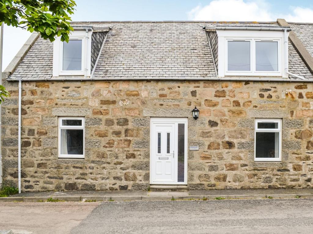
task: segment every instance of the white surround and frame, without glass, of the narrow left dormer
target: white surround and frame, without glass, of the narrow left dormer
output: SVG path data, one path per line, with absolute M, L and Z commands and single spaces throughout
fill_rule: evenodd
M 81 41 L 81 69 L 66 70 L 63 69 L 63 51 L 64 43 L 60 37 L 57 37 L 53 43 L 53 76 L 90 76 L 91 74 L 91 34 L 92 31 L 75 30 L 69 36 L 70 41 Z

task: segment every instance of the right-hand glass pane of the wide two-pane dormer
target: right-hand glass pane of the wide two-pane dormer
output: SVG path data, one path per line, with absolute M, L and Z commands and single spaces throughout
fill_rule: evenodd
M 278 71 L 278 42 L 255 42 L 255 70 Z

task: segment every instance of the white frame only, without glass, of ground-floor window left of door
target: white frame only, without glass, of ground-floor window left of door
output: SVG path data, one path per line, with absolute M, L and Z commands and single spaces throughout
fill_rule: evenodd
M 81 120 L 81 126 L 67 126 L 62 124 L 64 119 Z M 84 117 L 59 117 L 58 127 L 58 154 L 59 158 L 85 158 L 85 118 Z M 61 154 L 61 129 L 83 129 L 83 154 Z

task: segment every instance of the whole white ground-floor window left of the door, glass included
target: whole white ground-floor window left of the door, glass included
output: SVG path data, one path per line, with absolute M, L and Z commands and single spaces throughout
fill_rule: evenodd
M 84 117 L 59 117 L 59 158 L 85 158 Z

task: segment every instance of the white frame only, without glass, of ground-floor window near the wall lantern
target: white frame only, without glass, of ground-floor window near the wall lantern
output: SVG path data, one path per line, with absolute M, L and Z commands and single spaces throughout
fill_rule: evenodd
M 258 123 L 278 123 L 277 129 L 259 129 Z M 281 119 L 255 119 L 254 124 L 254 161 L 255 162 L 281 162 L 281 151 L 282 151 L 282 120 Z M 279 133 L 279 150 L 278 158 L 256 158 L 256 133 L 257 132 L 278 132 Z

